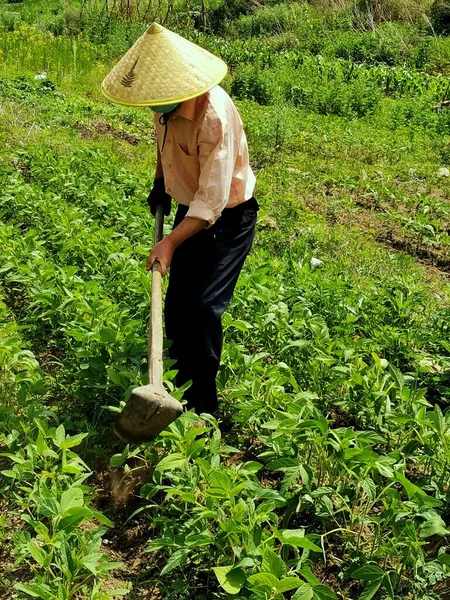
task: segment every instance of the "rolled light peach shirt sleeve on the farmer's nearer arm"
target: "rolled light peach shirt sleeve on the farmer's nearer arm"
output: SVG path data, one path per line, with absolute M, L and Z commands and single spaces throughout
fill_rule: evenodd
M 211 112 L 198 135 L 199 188 L 186 215 L 203 219 L 209 226 L 228 204 L 238 151 L 232 128 Z

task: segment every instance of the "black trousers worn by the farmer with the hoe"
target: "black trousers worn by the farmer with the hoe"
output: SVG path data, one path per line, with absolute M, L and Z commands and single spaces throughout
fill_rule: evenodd
M 188 207 L 179 205 L 176 227 Z M 226 208 L 216 223 L 183 242 L 173 255 L 165 302 L 169 355 L 176 384 L 188 381 L 188 408 L 214 413 L 216 375 L 222 353 L 222 322 L 239 273 L 252 246 L 258 203 L 254 198 Z

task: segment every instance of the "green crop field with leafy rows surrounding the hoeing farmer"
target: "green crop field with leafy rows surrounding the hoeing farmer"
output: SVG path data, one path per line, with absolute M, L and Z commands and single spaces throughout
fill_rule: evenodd
M 100 83 L 153 19 L 228 63 L 261 211 L 219 414 L 124 447 L 155 142 Z M 450 598 L 449 32 L 440 0 L 0 0 L 1 600 Z

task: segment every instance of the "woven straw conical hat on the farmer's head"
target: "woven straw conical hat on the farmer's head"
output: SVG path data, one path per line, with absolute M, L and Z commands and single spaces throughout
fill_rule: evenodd
M 128 106 L 164 106 L 196 98 L 225 77 L 217 56 L 153 23 L 106 76 L 102 92 Z

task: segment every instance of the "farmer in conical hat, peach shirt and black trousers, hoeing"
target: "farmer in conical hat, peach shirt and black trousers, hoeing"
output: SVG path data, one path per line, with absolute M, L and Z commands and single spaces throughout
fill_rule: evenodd
M 172 232 L 147 268 L 170 267 L 166 336 L 188 408 L 214 413 L 222 352 L 221 317 L 250 251 L 258 204 L 242 121 L 219 87 L 225 63 L 154 23 L 103 82 L 113 102 L 154 111 L 157 163 L 153 215 L 178 203 Z

